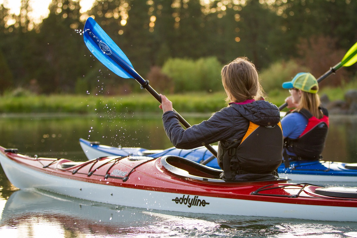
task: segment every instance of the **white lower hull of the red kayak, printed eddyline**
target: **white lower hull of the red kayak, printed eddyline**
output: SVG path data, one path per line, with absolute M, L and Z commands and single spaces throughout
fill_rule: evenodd
M 63 178 L 17 163 L 0 153 L 1 166 L 14 186 L 20 189 L 42 189 L 70 197 L 139 207 L 188 213 L 227 214 L 312 219 L 326 221 L 357 221 L 357 207 L 317 206 L 305 204 L 252 201 L 243 199 L 200 196 L 202 206 L 190 206 L 183 194 L 97 184 Z M 191 195 L 191 199 L 195 197 Z M 209 206 L 203 202 L 209 201 Z M 177 204 L 180 203 L 180 206 Z M 186 203 L 186 204 L 185 204 Z

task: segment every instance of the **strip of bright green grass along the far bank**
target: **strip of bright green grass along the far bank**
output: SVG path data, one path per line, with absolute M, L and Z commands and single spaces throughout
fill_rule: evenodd
M 323 88 L 319 95 L 326 94 L 331 101 L 344 98 L 345 92 L 356 88 Z M 287 90 L 273 90 L 266 100 L 280 106 L 289 95 Z M 178 112 L 211 113 L 226 105 L 225 93 L 192 92 L 166 95 Z M 130 112 L 160 113 L 159 103 L 149 93 L 126 96 L 79 96 L 79 95 L 23 95 L 1 96 L 0 113 L 77 113 L 77 114 L 114 114 Z

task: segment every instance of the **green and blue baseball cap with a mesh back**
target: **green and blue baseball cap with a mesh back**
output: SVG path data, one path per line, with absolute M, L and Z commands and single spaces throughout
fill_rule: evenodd
M 317 87 L 316 90 L 313 90 L 313 87 Z M 318 82 L 316 78 L 310 73 L 298 73 L 295 77 L 289 82 L 283 82 L 283 88 L 297 88 L 304 92 L 317 93 L 318 91 Z

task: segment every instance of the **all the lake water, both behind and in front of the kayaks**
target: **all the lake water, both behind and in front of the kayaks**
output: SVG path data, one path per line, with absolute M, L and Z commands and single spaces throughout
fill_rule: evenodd
M 208 118 L 190 118 L 191 124 Z M 0 145 L 20 153 L 85 160 L 78 139 L 111 146 L 171 147 L 161 116 L 0 117 Z M 323 156 L 357 162 L 357 117 L 331 117 Z M 254 208 L 252 208 L 254 209 Z M 273 213 L 274 211 L 272 211 Z M 357 223 L 149 211 L 20 191 L 0 167 L 0 237 L 357 237 Z

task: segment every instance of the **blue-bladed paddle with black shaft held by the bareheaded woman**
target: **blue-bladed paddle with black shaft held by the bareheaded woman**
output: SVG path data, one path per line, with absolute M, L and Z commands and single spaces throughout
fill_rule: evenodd
M 126 78 L 135 79 L 140 83 L 141 88 L 145 88 L 157 101 L 161 103 L 161 97 L 150 85 L 148 80 L 144 80 L 133 68 L 128 57 L 117 46 L 105 31 L 89 17 L 84 26 L 83 32 L 84 42 L 92 54 L 104 64 L 108 69 L 116 75 Z M 174 110 L 175 111 L 175 110 Z M 176 112 L 177 113 L 177 112 Z M 177 113 L 178 119 L 186 128 L 191 125 Z M 217 151 L 211 146 L 206 145 L 206 148 L 217 157 Z

